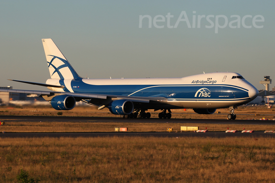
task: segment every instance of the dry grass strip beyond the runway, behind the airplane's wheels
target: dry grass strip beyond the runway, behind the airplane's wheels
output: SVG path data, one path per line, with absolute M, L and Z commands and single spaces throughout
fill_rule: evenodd
M 87 104 L 86 104 L 87 105 Z M 13 106 L 13 107 L 0 107 L 0 115 L 49 115 L 57 116 L 56 111 L 51 106 Z M 152 118 L 158 118 L 158 113 L 160 111 L 154 112 L 149 110 Z M 220 112 L 220 114 L 217 114 Z M 183 118 L 183 119 L 226 119 L 226 114 L 228 114 L 228 109 L 217 109 L 215 114 L 205 115 L 205 114 L 196 114 L 193 109 L 183 109 L 172 110 L 172 118 Z M 108 109 L 98 110 L 95 107 L 90 105 L 87 106 L 76 106 L 71 111 L 62 111 L 62 115 L 65 116 L 104 116 L 104 117 L 119 117 L 119 115 L 114 115 L 109 112 Z M 266 107 L 257 107 L 257 106 L 241 106 L 235 110 L 237 114 L 237 119 L 260 119 L 260 118 L 269 118 L 273 119 L 275 116 L 274 109 L 267 109 Z

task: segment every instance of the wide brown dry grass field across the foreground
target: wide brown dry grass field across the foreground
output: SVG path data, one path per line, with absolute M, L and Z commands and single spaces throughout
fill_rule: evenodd
M 0 138 L 1 183 L 267 183 L 274 138 Z

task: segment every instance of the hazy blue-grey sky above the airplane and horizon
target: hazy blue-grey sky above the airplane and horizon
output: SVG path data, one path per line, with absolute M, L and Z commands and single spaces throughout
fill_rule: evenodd
M 230 71 L 242 74 L 257 89 L 265 88 L 259 81 L 269 75 L 273 88 L 274 8 L 274 0 L 2 0 L 0 86 L 48 91 L 7 79 L 45 83 L 50 74 L 41 39 L 51 38 L 82 77 L 184 77 Z M 190 26 L 180 17 L 182 12 Z M 151 17 L 151 28 L 148 18 L 139 27 L 140 15 Z M 232 28 L 238 22 L 230 24 L 237 20 L 233 15 L 240 17 L 239 28 Z M 264 21 L 254 24 L 263 28 L 252 23 L 257 15 Z

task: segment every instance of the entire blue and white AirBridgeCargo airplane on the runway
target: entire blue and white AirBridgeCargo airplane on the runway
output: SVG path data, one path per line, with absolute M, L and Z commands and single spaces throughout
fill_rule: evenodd
M 76 101 L 108 108 L 123 118 L 150 118 L 149 109 L 160 110 L 159 118 L 171 118 L 171 109 L 193 109 L 213 114 L 234 109 L 258 95 L 258 90 L 235 72 L 204 73 L 181 78 L 88 79 L 80 77 L 51 39 L 42 39 L 50 79 L 46 83 L 17 82 L 44 86 L 51 91 L 0 89 L 0 92 L 39 94 L 56 110 L 71 110 Z

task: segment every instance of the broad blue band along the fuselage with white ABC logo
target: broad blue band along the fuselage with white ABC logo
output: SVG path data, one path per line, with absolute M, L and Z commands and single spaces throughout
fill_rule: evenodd
M 62 80 L 60 80 L 62 81 Z M 64 85 L 64 83 L 60 83 Z M 161 96 L 174 100 L 244 100 L 248 90 L 234 85 L 90 85 L 81 79 L 71 82 L 74 92 L 122 96 Z

